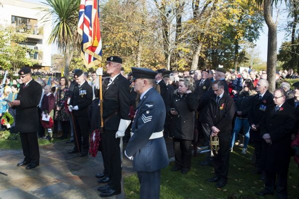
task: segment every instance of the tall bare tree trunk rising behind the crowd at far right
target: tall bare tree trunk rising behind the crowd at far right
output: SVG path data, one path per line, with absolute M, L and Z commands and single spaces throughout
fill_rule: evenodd
M 264 0 L 264 18 L 268 26 L 267 80 L 269 91 L 273 92 L 277 61 L 277 22 L 272 18 L 272 0 Z

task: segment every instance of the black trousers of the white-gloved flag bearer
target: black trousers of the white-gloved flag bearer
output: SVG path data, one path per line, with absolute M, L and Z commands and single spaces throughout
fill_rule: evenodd
M 103 139 L 103 160 L 105 169 L 110 177 L 110 183 L 108 185 L 111 189 L 121 191 L 121 180 L 122 180 L 122 163 L 121 163 L 121 148 L 120 138 L 115 138 L 117 131 L 105 130 L 101 134 Z

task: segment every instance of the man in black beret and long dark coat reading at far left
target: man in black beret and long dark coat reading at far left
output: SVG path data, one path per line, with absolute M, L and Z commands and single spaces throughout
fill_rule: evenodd
M 18 72 L 23 84 L 16 100 L 8 103 L 16 110 L 15 132 L 20 132 L 24 160 L 17 166 L 27 165 L 26 169 L 33 169 L 39 165 L 39 149 L 37 131 L 39 116 L 37 105 L 41 98 L 42 88 L 31 77 L 29 67 L 23 67 Z

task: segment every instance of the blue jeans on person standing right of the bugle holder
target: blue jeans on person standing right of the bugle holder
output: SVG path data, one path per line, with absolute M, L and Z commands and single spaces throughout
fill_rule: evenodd
M 243 119 L 243 118 L 239 118 L 239 117 L 236 117 L 236 120 L 235 120 L 235 127 L 234 127 L 234 131 L 232 134 L 232 144 L 231 144 L 232 148 L 235 144 L 235 137 L 238 137 L 239 132 L 242 127 L 244 130 L 244 137 L 245 137 L 244 138 L 244 148 L 247 148 L 247 145 L 249 143 L 249 131 L 250 131 L 249 121 L 248 121 L 248 119 Z

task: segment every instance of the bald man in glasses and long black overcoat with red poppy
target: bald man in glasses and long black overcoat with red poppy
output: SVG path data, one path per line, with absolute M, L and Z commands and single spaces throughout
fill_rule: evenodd
M 273 99 L 275 104 L 269 106 L 260 123 L 260 133 L 263 137 L 262 166 L 265 172 L 265 190 L 256 194 L 272 195 L 276 188 L 277 197 L 287 199 L 291 135 L 296 124 L 296 113 L 295 108 L 285 102 L 285 90 L 275 90 Z

